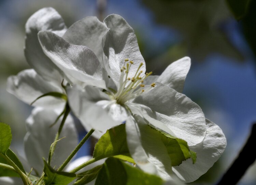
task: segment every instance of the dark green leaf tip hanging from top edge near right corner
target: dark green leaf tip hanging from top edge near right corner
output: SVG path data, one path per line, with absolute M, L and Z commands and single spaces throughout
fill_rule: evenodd
M 231 12 L 234 14 L 237 20 L 242 19 L 248 11 L 248 6 L 251 0 L 226 0 L 230 7 Z

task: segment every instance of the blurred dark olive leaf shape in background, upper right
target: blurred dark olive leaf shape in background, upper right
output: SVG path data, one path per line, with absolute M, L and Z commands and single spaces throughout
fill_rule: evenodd
M 225 21 L 230 16 L 225 1 L 142 0 L 142 2 L 152 10 L 157 23 L 182 33 L 182 46 L 185 48 L 182 50 L 186 51 L 186 55 L 201 61 L 211 53 L 220 53 L 243 60 L 243 55 L 233 46 L 225 33 Z M 180 54 L 184 56 L 184 52 Z M 170 62 L 169 58 L 168 63 Z

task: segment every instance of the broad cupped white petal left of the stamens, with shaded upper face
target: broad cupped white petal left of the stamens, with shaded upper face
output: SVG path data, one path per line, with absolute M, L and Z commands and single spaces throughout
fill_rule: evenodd
M 88 47 L 69 44 L 48 31 L 39 32 L 38 38 L 45 54 L 65 73 L 71 83 L 83 82 L 105 88 L 103 68 Z

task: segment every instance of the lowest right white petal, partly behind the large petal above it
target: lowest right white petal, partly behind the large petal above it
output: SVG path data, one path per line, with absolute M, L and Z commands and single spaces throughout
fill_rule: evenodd
M 183 161 L 180 166 L 173 167 L 173 171 L 185 182 L 193 182 L 202 174 L 206 173 L 224 152 L 227 140 L 221 128 L 206 119 L 207 132 L 204 140 L 189 147 L 197 153 L 197 161 L 192 164 L 191 160 Z

